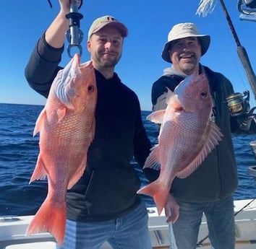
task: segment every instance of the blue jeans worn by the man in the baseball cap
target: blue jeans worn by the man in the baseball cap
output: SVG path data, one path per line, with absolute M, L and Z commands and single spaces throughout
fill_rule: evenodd
M 148 211 L 140 206 L 119 219 L 104 222 L 74 222 L 67 220 L 61 249 L 98 249 L 108 241 L 114 249 L 151 249 L 148 231 Z M 57 245 L 56 248 L 60 247 Z

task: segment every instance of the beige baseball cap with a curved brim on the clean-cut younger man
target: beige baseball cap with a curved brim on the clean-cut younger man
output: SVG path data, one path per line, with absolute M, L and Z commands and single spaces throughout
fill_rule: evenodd
M 91 35 L 93 35 L 95 32 L 98 32 L 98 30 L 101 30 L 106 25 L 116 27 L 116 29 L 119 30 L 119 32 L 121 33 L 122 37 L 127 37 L 128 29 L 124 24 L 119 22 L 115 17 L 103 16 L 98 17 L 93 21 L 93 24 L 90 26 L 90 29 L 88 31 L 88 40 Z

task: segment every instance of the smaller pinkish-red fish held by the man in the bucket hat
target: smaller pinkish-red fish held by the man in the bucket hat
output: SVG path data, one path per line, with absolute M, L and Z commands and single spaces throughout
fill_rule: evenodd
M 160 169 L 157 180 L 137 193 L 152 196 L 161 214 L 175 177 L 187 178 L 221 141 L 220 129 L 210 121 L 212 100 L 205 74 L 192 74 L 174 92 L 168 89 L 166 110 L 147 119 L 161 123 L 158 144 L 151 149 L 144 167 Z

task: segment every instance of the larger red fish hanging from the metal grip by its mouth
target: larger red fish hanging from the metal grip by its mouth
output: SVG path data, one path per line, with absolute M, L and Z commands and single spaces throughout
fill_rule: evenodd
M 47 176 L 48 194 L 26 235 L 47 231 L 59 245 L 63 243 L 66 193 L 85 171 L 88 147 L 95 134 L 96 102 L 93 64 L 80 64 L 76 54 L 54 79 L 35 124 L 34 136 L 40 132 L 40 153 L 30 183 Z

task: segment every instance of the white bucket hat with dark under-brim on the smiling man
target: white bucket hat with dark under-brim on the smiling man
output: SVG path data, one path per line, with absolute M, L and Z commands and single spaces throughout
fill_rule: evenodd
M 168 33 L 168 42 L 164 45 L 162 58 L 165 61 L 171 62 L 170 59 L 170 49 L 171 42 L 174 40 L 197 37 L 201 44 L 201 56 L 203 56 L 209 48 L 210 45 L 210 35 L 199 35 L 197 26 L 191 22 L 184 22 L 174 25 L 171 31 Z

